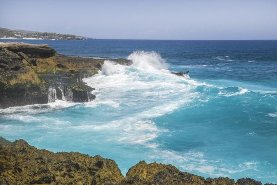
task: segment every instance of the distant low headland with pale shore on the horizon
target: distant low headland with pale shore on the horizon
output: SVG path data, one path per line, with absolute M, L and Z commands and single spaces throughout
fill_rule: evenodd
M 57 34 L 27 30 L 0 28 L 0 38 L 4 39 L 42 39 L 42 40 L 86 40 L 86 37 L 71 34 Z

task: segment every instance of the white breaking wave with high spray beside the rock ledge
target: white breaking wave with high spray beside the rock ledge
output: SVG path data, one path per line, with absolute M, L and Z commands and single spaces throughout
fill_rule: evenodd
M 93 93 L 97 96 L 95 101 L 86 103 L 86 106 L 96 107 L 107 103 L 116 105 L 113 106 L 116 108 L 120 108 L 121 104 L 141 106 L 149 107 L 150 112 L 163 110 L 156 112 L 156 115 L 162 115 L 170 112 L 164 111 L 170 107 L 176 109 L 178 105 L 189 102 L 191 97 L 197 95 L 190 91 L 203 85 L 190 78 L 171 74 L 166 69 L 165 61 L 155 52 L 134 52 L 128 58 L 133 61 L 131 66 L 117 65 L 107 60 L 102 71 L 84 79 L 88 85 L 96 88 Z

